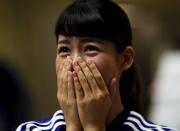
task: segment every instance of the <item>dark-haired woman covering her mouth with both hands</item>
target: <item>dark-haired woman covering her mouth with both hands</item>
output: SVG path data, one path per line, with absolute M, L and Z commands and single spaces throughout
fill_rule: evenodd
M 76 0 L 60 15 L 57 98 L 61 110 L 17 131 L 169 131 L 145 120 L 131 27 L 110 0 Z M 138 113 L 137 113 L 138 112 Z

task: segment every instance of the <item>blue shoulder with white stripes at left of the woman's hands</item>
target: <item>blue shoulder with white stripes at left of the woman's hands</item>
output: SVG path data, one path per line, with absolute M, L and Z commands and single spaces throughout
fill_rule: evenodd
M 16 131 L 31 131 L 31 130 L 43 130 L 43 131 L 62 131 L 65 128 L 65 120 L 62 110 L 58 110 L 54 115 L 48 119 L 41 121 L 29 121 L 22 123 L 18 126 Z

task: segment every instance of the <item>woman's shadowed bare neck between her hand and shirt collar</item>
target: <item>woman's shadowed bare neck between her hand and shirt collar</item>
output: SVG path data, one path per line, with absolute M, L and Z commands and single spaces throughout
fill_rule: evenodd
M 107 117 L 107 125 L 110 124 L 124 109 L 120 98 L 119 88 L 112 101 L 112 107 Z

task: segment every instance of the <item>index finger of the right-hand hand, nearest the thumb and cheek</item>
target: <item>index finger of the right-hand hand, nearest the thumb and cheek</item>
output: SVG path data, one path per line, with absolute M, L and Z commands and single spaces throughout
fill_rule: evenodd
M 102 78 L 101 73 L 97 69 L 96 65 L 92 61 L 88 61 L 88 66 L 96 80 L 96 83 L 100 87 L 100 89 L 107 90 L 107 86 L 104 82 L 104 79 Z

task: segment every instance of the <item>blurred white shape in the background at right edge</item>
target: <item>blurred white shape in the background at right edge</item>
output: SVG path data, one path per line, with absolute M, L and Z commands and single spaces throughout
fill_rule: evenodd
M 171 42 L 172 47 L 165 50 L 159 58 L 152 84 L 150 118 L 180 130 L 180 39 L 178 37 L 175 40 L 177 41 Z

